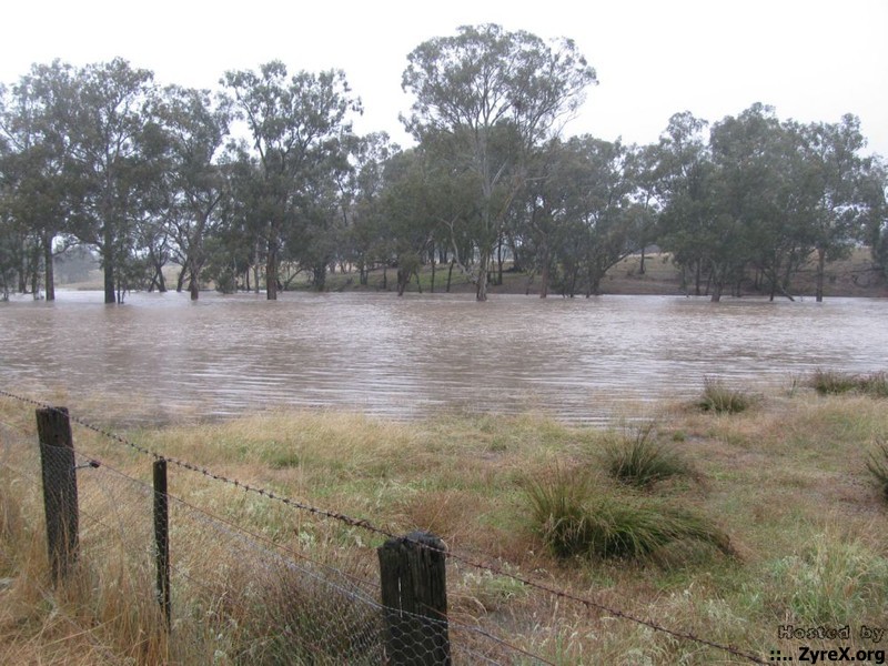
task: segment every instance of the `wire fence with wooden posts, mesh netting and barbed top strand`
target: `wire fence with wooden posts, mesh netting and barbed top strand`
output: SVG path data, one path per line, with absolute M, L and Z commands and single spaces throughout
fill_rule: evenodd
M 23 407 L 53 410 L 3 391 L 0 396 Z M 108 663 L 597 663 L 592 648 L 583 645 L 594 640 L 565 630 L 576 626 L 577 617 L 587 625 L 604 618 L 634 623 L 670 642 L 719 654 L 723 663 L 767 663 L 734 646 L 445 552 L 433 541 L 391 534 L 366 519 L 164 457 L 77 416 L 70 422 L 78 431 L 73 465 L 53 463 L 62 458 L 52 458 L 52 452 L 64 446 L 43 442 L 27 416 L 0 423 L 0 527 L 7 541 L 22 525 L 32 527 L 31 541 L 46 541 L 34 517 L 43 512 L 49 516 L 46 495 L 40 506 L 47 457 L 50 466 L 61 465 L 56 473 L 75 476 L 75 497 L 57 497 L 78 508 L 77 543 L 69 534 L 74 526 L 59 528 L 63 555 L 74 551 L 75 556 L 63 558 L 59 567 L 62 574 L 73 572 L 65 574 L 63 587 L 89 608 L 89 614 L 81 612 L 81 633 L 98 645 L 94 649 L 111 653 L 103 656 Z M 151 465 L 159 461 L 169 470 L 162 493 L 169 512 L 165 579 Z M 406 546 L 417 557 L 402 566 L 407 578 L 395 587 L 406 591 L 417 567 L 440 556 L 442 568 L 446 562 L 443 589 L 430 592 L 434 583 L 416 583 L 422 588 L 416 607 L 408 599 L 387 599 L 381 553 L 389 545 Z M 54 572 L 52 546 L 43 547 L 44 569 Z M 521 608 L 507 601 L 483 604 L 473 592 L 478 584 L 519 591 Z M 434 605 L 426 593 L 444 599 L 443 609 L 417 610 Z M 529 607 L 533 613 L 525 613 Z

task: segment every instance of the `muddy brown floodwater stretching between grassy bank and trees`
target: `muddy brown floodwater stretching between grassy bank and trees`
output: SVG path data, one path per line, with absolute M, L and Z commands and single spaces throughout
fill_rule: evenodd
M 157 420 L 321 406 L 411 418 L 643 416 L 705 377 L 788 387 L 817 367 L 888 369 L 888 301 L 682 296 L 98 292 L 0 304 L 0 389 Z M 90 402 L 91 401 L 91 402 Z M 113 403 L 113 405 L 112 405 Z

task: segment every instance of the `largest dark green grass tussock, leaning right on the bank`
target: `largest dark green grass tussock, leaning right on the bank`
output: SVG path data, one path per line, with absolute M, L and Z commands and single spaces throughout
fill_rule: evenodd
M 593 488 L 582 474 L 559 471 L 548 480 L 528 481 L 526 493 L 533 527 L 557 557 L 674 562 L 678 555 L 686 563 L 700 551 L 734 553 L 728 536 L 706 518 Z

